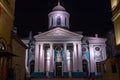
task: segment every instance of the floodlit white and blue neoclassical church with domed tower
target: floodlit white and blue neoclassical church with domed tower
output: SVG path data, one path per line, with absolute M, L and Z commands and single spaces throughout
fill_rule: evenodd
M 49 30 L 23 40 L 26 74 L 32 77 L 84 77 L 102 75 L 106 60 L 106 39 L 85 37 L 69 30 L 70 14 L 55 6 L 48 14 Z

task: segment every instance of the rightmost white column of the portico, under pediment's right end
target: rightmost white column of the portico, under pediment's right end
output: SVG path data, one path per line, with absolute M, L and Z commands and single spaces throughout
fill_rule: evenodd
M 81 48 L 81 42 L 78 43 L 78 70 L 79 72 L 82 72 L 82 48 Z

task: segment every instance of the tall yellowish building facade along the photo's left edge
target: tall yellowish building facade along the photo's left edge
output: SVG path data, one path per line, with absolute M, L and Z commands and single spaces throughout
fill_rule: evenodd
M 11 36 L 14 21 L 15 0 L 0 0 L 0 79 L 6 80 L 11 66 Z

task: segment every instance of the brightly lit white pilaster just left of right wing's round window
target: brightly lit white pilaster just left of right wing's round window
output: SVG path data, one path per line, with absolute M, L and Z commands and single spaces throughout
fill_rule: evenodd
M 93 44 L 89 44 L 89 50 L 90 50 L 90 72 L 95 72 Z

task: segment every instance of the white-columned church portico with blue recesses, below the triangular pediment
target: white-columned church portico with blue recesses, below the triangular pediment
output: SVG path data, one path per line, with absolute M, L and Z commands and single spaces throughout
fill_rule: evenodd
M 76 42 L 36 42 L 35 72 L 46 73 L 46 76 L 71 76 L 71 72 L 80 72 L 82 65 L 80 41 Z M 59 68 L 61 67 L 61 68 Z M 57 69 L 60 69 L 58 72 Z

